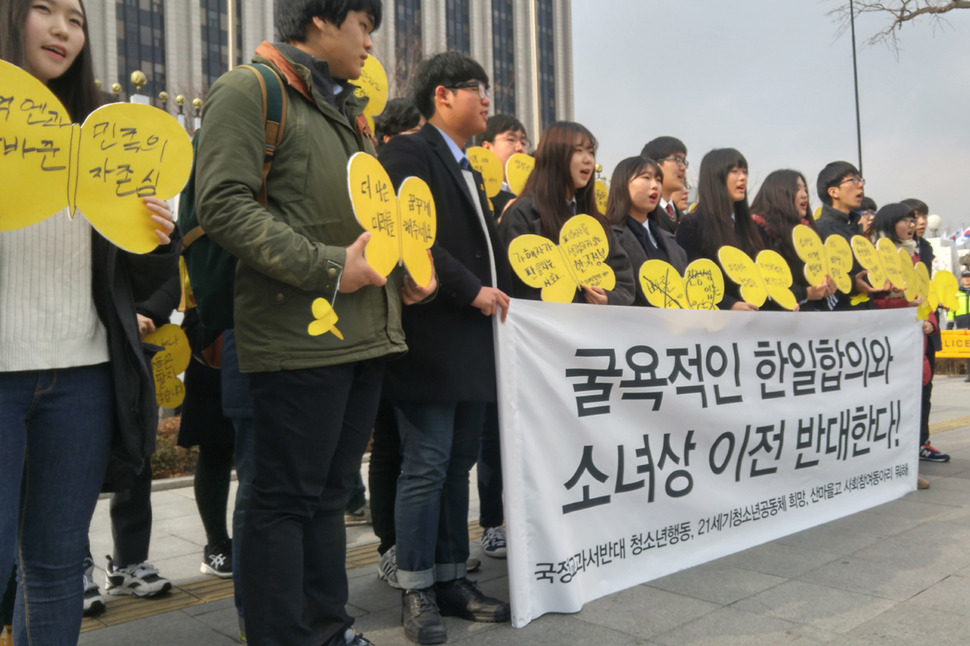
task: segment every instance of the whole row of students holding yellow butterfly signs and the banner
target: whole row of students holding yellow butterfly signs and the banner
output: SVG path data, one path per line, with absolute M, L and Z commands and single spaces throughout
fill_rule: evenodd
M 83 121 L 99 99 L 81 0 L 0 0 L 0 8 L 10 17 L 2 58 L 46 84 Z M 372 429 L 380 576 L 402 590 L 406 636 L 446 641 L 443 615 L 509 620 L 509 604 L 466 576 L 473 565 L 466 519 L 469 472 L 478 461 L 484 551 L 505 555 L 492 324 L 505 320 L 510 297 L 539 298 L 510 270 L 507 248 L 518 235 L 556 240 L 578 213 L 600 222 L 616 285 L 583 286 L 574 299 L 600 305 L 646 306 L 636 279 L 645 260 L 666 260 L 682 272 L 698 258 L 719 262 L 726 244 L 751 256 L 781 254 L 802 311 L 916 304 L 870 284 L 858 266 L 850 294 L 837 291 L 831 277 L 809 284 L 791 239 L 799 224 L 823 238 L 886 237 L 932 270 L 922 238 L 926 205 L 907 200 L 877 211 L 847 162 L 819 172 L 816 221 L 804 174 L 771 172 L 749 205 L 744 155 L 712 150 L 701 160 L 697 202 L 688 209 L 687 148 L 658 137 L 617 165 L 601 213 L 593 134 L 557 122 L 530 150 L 518 120 L 488 117 L 488 77 L 459 53 L 419 66 L 412 97 L 389 104 L 375 140 L 362 116 L 366 99 L 349 81 L 359 77 L 381 24 L 381 0 L 278 0 L 275 15 L 279 42 L 263 43 L 254 60 L 286 81 L 287 127 L 265 185 L 261 92 L 245 71 L 227 73 L 210 89 L 196 160 L 199 220 L 239 260 L 223 387 L 227 374 L 245 377 L 230 388 L 242 394 L 244 411 L 229 415 L 237 467 L 240 451 L 246 456 L 231 561 L 253 644 L 371 643 L 346 609 L 343 514 Z M 503 164 L 516 152 L 534 154 L 520 195 L 506 184 L 486 197 L 465 154 L 473 140 Z M 370 234 L 354 218 L 346 168 L 352 154 L 375 153 L 374 143 L 395 185 L 417 176 L 434 197 L 435 275 L 427 285 L 399 268 L 382 276 L 366 262 Z M 145 198 L 145 217 L 160 246 L 141 256 L 109 245 L 83 218 L 0 234 L 0 564 L 19 568 L 16 643 L 76 641 L 78 575 L 98 491 L 106 473 L 115 486 L 144 473 L 150 454 L 157 410 L 135 303 L 171 275 L 181 245 L 163 201 Z M 321 296 L 339 315 L 341 337 L 306 333 Z M 757 309 L 730 281 L 719 306 Z M 921 459 L 945 461 L 928 441 L 935 317 L 923 327 L 919 451 Z M 220 448 L 226 459 L 229 444 Z M 224 478 L 217 480 L 213 500 L 224 509 Z M 226 552 L 224 525 L 206 529 Z

